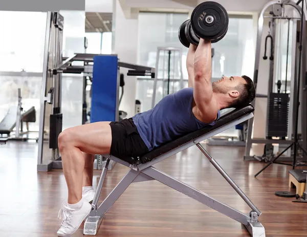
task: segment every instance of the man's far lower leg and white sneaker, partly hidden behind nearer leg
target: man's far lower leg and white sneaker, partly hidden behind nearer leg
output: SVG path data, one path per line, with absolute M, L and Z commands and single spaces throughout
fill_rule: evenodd
M 82 184 L 82 198 L 89 203 L 92 203 L 95 191 L 93 188 L 93 173 L 94 173 L 94 161 L 95 155 L 83 153 L 85 160 L 83 170 L 83 184 Z

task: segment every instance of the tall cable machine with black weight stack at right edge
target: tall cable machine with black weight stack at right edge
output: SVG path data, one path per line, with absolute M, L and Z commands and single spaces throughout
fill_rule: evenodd
M 290 6 L 296 9 L 301 17 L 288 17 L 284 15 L 286 6 Z M 269 15 L 268 14 L 265 15 L 265 13 L 269 9 L 272 9 L 272 11 L 270 11 Z M 266 159 L 266 153 L 272 154 L 272 144 L 278 143 L 278 144 L 283 144 L 283 145 L 289 145 L 288 148 L 290 148 L 292 147 L 293 142 L 296 142 L 296 137 L 297 137 L 296 128 L 297 128 L 298 122 L 295 116 L 296 114 L 298 114 L 297 101 L 299 100 L 306 101 L 307 99 L 307 91 L 305 90 L 306 82 L 305 80 L 303 80 L 303 78 L 305 78 L 305 71 L 306 71 L 305 70 L 305 67 L 306 67 L 305 45 L 302 44 L 297 47 L 296 39 L 293 39 L 290 42 L 290 46 L 293 45 L 293 49 L 296 48 L 296 51 L 294 52 L 294 50 L 291 49 L 292 54 L 293 54 L 291 68 L 294 69 L 295 72 L 292 73 L 291 85 L 290 85 L 291 91 L 290 91 L 290 96 L 289 96 L 289 94 L 287 93 L 280 92 L 280 85 L 281 85 L 280 78 L 279 78 L 279 81 L 277 82 L 277 93 L 273 93 L 273 85 L 275 83 L 274 82 L 274 63 L 276 63 L 276 59 L 274 57 L 274 43 L 275 43 L 275 31 L 276 31 L 277 20 L 288 20 L 289 25 L 293 24 L 293 33 L 295 36 L 296 36 L 296 23 L 298 20 L 301 20 L 302 27 L 300 31 L 300 36 L 303 38 L 303 41 L 305 40 L 305 16 L 304 14 L 301 14 L 301 13 L 302 13 L 302 8 L 292 1 L 273 0 L 273 1 L 268 2 L 259 14 L 257 42 L 256 42 L 256 57 L 255 57 L 254 76 L 253 76 L 255 88 L 257 88 L 257 83 L 258 83 L 260 48 L 261 48 L 261 38 L 262 38 L 262 29 L 264 25 L 264 18 L 271 19 L 269 35 L 266 38 L 266 45 L 268 43 L 268 39 L 271 40 L 271 53 L 269 56 L 270 75 L 269 75 L 269 81 L 268 81 L 268 95 L 267 96 L 266 95 L 256 95 L 256 98 L 252 102 L 252 104 L 255 105 L 255 101 L 259 97 L 268 98 L 267 134 L 266 134 L 266 139 L 252 138 L 254 118 L 251 118 L 248 121 L 247 141 L 246 141 L 246 150 L 245 150 L 244 160 L 254 160 L 255 158 L 257 158 L 257 157 L 250 156 L 250 150 L 251 150 L 252 144 L 254 143 L 266 144 L 264 157 L 260 159 L 258 158 L 260 161 L 263 161 L 264 159 Z M 288 36 L 289 36 L 289 28 L 288 28 Z M 289 40 L 288 40 L 287 51 L 289 52 Z M 297 58 L 298 53 L 301 55 L 301 61 L 298 61 L 298 58 Z M 268 56 L 266 53 L 264 55 L 264 59 L 265 60 L 268 59 Z M 288 62 L 288 56 L 287 56 L 287 62 Z M 299 68 L 298 72 L 296 72 L 297 68 Z M 288 70 L 289 69 L 287 65 L 286 71 L 288 72 Z M 302 83 L 299 83 L 300 81 L 302 81 Z M 299 97 L 299 93 L 301 94 L 301 97 Z M 306 130 L 306 125 L 303 121 L 305 120 L 307 116 L 307 105 L 306 103 L 301 103 L 300 105 L 301 105 L 301 138 L 302 138 L 302 141 L 304 141 L 305 143 L 305 141 L 307 141 L 306 140 L 307 130 Z M 292 124 L 292 125 L 288 126 L 288 122 L 289 124 Z M 288 140 L 286 140 L 286 137 L 288 137 Z M 303 143 L 300 143 L 300 144 L 303 148 L 305 148 L 306 144 L 303 144 Z M 277 156 L 277 158 L 279 158 L 280 155 L 286 152 L 286 150 L 283 150 L 283 152 L 281 152 Z M 294 153 L 296 153 L 295 150 L 296 150 L 296 146 L 294 147 Z M 293 167 L 294 167 L 295 165 L 299 165 L 299 164 L 296 164 L 295 158 L 296 158 L 296 154 L 294 154 L 294 159 L 291 156 L 291 157 L 282 157 L 282 160 L 284 161 L 293 160 Z M 276 158 L 274 158 L 274 160 L 276 160 Z M 270 161 L 270 164 L 271 163 L 273 162 Z M 280 163 L 280 162 L 274 162 L 274 163 Z M 284 163 L 281 163 L 281 164 L 284 164 Z M 262 170 L 260 170 L 259 173 Z M 256 176 L 258 174 L 256 174 Z

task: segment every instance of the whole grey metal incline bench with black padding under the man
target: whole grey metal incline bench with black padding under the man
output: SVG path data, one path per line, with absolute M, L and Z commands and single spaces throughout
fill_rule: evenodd
M 208 207 L 225 214 L 226 216 L 242 223 L 250 232 L 253 237 L 265 237 L 265 228 L 260 222 L 258 217 L 261 212 L 258 208 L 249 200 L 245 193 L 233 182 L 233 180 L 226 174 L 223 168 L 207 153 L 200 142 L 215 136 L 236 124 L 242 123 L 253 117 L 254 107 L 248 105 L 242 109 L 236 109 L 229 113 L 222 115 L 213 126 L 203 128 L 180 137 L 176 140 L 170 141 L 158 148 L 151 150 L 148 154 L 134 159 L 131 157 L 114 157 L 112 155 L 103 155 L 107 160 L 103 167 L 100 180 L 98 182 L 97 191 L 92 203 L 92 210 L 84 223 L 83 233 L 85 235 L 95 235 L 103 219 L 104 214 L 109 208 L 116 202 L 116 200 L 122 195 L 125 189 L 135 182 L 143 182 L 150 180 L 157 180 L 179 192 L 184 193 L 188 197 L 199 201 Z M 212 165 L 221 173 L 221 175 L 227 180 L 227 182 L 235 189 L 240 197 L 249 205 L 252 209 L 249 214 L 244 214 L 239 210 L 236 210 L 224 203 L 218 202 L 209 197 L 206 193 L 194 189 L 193 187 L 176 180 L 169 175 L 159 171 L 152 165 L 174 155 L 182 150 L 196 145 L 201 152 L 209 159 Z M 122 165 L 130 168 L 125 177 L 118 183 L 111 193 L 104 199 L 99 207 L 97 207 L 98 199 L 100 196 L 102 184 L 107 173 L 107 167 L 109 161 L 113 160 Z

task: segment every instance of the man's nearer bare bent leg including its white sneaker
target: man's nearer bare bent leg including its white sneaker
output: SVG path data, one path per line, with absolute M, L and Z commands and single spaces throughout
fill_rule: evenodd
M 63 221 L 58 236 L 69 236 L 81 225 L 91 211 L 82 199 L 85 159 L 82 154 L 109 154 L 112 131 L 109 122 L 84 124 L 64 130 L 58 138 L 63 173 L 68 187 L 68 203 L 62 211 Z

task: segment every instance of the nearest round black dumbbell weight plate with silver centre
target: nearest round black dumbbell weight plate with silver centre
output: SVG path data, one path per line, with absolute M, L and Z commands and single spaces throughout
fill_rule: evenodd
M 190 21 L 196 35 L 217 42 L 225 36 L 229 18 L 221 4 L 208 1 L 201 3 L 193 10 Z

